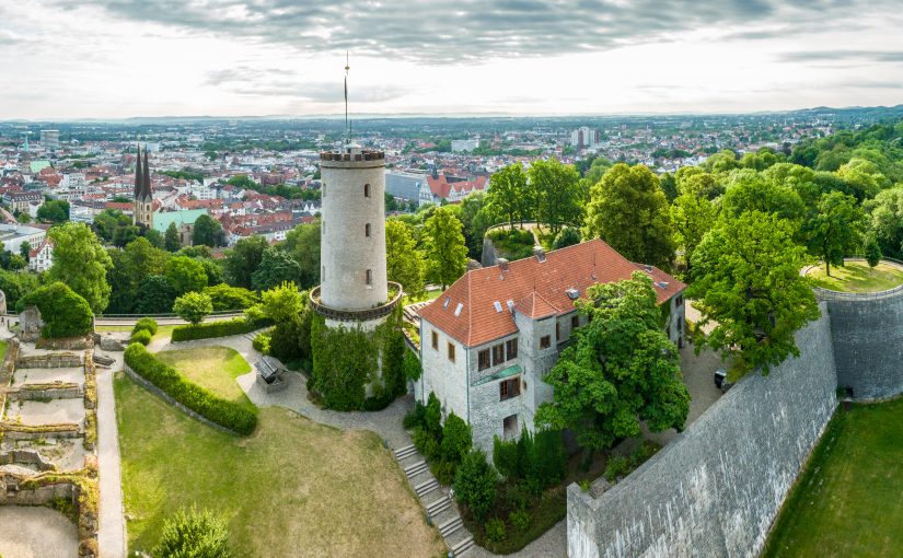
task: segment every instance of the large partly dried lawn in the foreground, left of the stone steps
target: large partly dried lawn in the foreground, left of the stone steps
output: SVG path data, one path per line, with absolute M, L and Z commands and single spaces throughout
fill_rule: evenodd
M 413 491 L 382 441 L 281 408 L 235 438 L 117 374 L 116 415 L 129 554 L 158 543 L 192 504 L 221 514 L 233 556 L 438 556 Z

